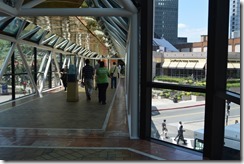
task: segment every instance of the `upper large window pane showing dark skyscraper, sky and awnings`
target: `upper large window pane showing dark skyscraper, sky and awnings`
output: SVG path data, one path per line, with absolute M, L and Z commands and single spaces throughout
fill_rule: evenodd
M 175 84 L 173 79 L 180 78 L 177 84 L 202 86 L 207 72 L 208 1 L 155 0 L 154 5 L 153 81 Z

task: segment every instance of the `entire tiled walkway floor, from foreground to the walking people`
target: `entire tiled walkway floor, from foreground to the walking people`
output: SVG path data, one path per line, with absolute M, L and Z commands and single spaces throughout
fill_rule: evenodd
M 50 92 L 0 106 L 0 160 L 202 160 L 198 154 L 129 138 L 124 81 L 108 88 L 107 104 L 94 91 L 67 102 Z

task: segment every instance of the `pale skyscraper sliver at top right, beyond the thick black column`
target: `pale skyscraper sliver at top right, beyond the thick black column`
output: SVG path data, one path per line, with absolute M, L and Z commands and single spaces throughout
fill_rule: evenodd
M 230 0 L 230 38 L 240 37 L 240 0 Z

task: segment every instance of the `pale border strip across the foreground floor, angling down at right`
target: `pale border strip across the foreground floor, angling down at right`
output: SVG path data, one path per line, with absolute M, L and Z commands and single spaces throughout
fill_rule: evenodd
M 61 147 L 61 146 L 0 146 L 0 148 L 29 148 L 29 149 L 78 149 L 78 150 L 128 150 L 156 160 L 165 160 L 161 157 L 145 153 L 130 147 Z

